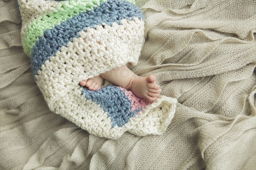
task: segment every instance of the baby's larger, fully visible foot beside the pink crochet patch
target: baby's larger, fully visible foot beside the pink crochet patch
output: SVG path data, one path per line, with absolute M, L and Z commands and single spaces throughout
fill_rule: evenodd
M 136 96 L 154 101 L 160 95 L 162 89 L 156 84 L 156 76 L 150 74 L 147 77 L 136 76 L 131 79 L 127 90 L 131 90 Z M 128 85 L 129 86 L 129 85 Z

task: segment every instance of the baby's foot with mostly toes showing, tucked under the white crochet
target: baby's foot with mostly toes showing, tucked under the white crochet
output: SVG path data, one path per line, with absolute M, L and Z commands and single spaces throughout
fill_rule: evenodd
M 101 89 L 103 78 L 96 76 L 90 79 L 86 79 L 80 82 L 81 86 L 86 86 L 89 90 L 97 91 Z

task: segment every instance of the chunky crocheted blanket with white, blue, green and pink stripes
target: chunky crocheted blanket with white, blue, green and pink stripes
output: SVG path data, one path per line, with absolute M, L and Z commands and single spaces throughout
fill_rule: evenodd
M 124 0 L 18 0 L 23 49 L 51 111 L 96 136 L 125 131 L 162 134 L 176 99 L 154 102 L 105 81 L 99 91 L 79 82 L 113 68 L 136 65 L 144 42 L 143 13 Z

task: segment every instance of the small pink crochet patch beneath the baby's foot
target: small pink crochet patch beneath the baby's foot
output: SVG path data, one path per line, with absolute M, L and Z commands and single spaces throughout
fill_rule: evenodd
M 137 97 L 131 91 L 126 90 L 125 88 L 120 87 L 122 91 L 125 91 L 125 96 L 128 95 L 127 99 L 131 100 L 131 112 L 139 108 L 145 108 L 146 106 L 150 105 L 152 102 L 148 99 L 143 99 Z

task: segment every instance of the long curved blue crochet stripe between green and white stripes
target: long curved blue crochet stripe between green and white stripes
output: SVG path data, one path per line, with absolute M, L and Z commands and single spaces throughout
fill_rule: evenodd
M 112 26 L 116 22 L 121 25 L 122 19 L 133 20 L 134 17 L 144 20 L 139 7 L 129 2 L 108 0 L 101 2 L 101 6 L 94 7 L 92 11 L 81 12 L 60 25 L 45 30 L 44 36 L 39 37 L 32 49 L 31 62 L 34 74 L 37 75 L 44 62 L 49 60 L 50 56 L 55 56 L 62 46 L 73 42 L 74 37 L 78 38 L 79 31 L 86 31 L 87 27 L 96 28 L 102 23 Z

